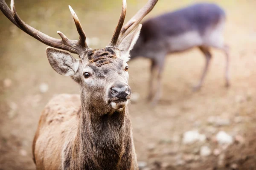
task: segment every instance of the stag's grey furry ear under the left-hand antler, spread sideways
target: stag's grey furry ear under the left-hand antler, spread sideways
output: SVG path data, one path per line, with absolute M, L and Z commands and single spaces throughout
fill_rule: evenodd
M 58 74 L 74 76 L 78 71 L 79 59 L 75 59 L 68 52 L 47 47 L 46 55 L 53 70 Z

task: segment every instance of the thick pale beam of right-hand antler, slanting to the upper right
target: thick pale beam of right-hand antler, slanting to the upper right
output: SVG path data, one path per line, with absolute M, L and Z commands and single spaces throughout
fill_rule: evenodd
M 138 11 L 134 17 L 129 20 L 119 34 L 117 44 L 120 44 L 122 40 L 140 23 L 140 21 L 154 8 L 158 0 L 148 0 L 143 8 Z

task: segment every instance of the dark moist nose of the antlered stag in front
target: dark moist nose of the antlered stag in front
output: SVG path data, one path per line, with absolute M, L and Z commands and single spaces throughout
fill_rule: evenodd
M 111 88 L 111 96 L 118 99 L 130 99 L 131 88 L 127 84 L 116 84 Z

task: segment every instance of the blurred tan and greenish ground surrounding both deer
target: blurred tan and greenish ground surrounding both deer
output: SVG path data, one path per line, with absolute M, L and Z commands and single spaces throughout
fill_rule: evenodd
M 147 0 L 127 1 L 126 21 Z M 195 2 L 159 0 L 145 19 Z M 256 167 L 256 1 L 209 2 L 217 3 L 227 13 L 224 37 L 230 45 L 231 87 L 224 87 L 225 57 L 221 51 L 212 50 L 212 63 L 198 92 L 192 92 L 191 87 L 201 76 L 204 56 L 198 49 L 172 54 L 165 62 L 162 98 L 151 108 L 146 102 L 150 61 L 138 58 L 129 62 L 129 83 L 138 97 L 129 110 L 141 169 Z M 91 48 L 107 45 L 122 7 L 121 0 L 15 3 L 17 13 L 30 26 L 51 37 L 60 38 L 56 31 L 61 31 L 77 40 L 79 35 L 68 9 L 72 6 Z M 32 139 L 41 111 L 54 94 L 79 94 L 79 85 L 57 74 L 48 63 L 47 46 L 23 33 L 1 12 L 0 37 L 0 170 L 33 170 Z M 219 144 L 218 135 L 227 144 Z

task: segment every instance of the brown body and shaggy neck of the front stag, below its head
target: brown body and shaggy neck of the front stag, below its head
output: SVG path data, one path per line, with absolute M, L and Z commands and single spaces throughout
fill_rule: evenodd
M 127 109 L 94 122 L 88 117 L 95 113 L 83 113 L 81 102 L 79 95 L 61 94 L 47 104 L 33 143 L 36 165 L 45 170 L 136 170 Z

